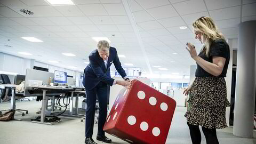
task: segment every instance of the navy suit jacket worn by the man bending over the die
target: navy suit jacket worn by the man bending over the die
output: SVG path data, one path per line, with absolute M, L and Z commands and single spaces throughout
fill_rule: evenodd
M 83 85 L 87 90 L 92 90 L 100 82 L 104 82 L 110 86 L 113 85 L 115 79 L 110 76 L 110 66 L 112 63 L 114 63 L 116 70 L 122 77 L 126 76 L 115 47 L 110 46 L 107 68 L 97 50 L 91 52 L 89 61 L 89 65 L 84 69 L 83 79 Z

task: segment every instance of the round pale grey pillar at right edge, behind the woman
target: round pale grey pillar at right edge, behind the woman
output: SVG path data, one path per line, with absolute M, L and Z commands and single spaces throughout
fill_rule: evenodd
M 233 134 L 253 137 L 256 21 L 239 24 Z

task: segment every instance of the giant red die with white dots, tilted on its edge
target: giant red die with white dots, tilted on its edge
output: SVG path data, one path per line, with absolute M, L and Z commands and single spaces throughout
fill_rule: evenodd
M 122 89 L 103 130 L 129 143 L 165 143 L 176 102 L 138 80 Z

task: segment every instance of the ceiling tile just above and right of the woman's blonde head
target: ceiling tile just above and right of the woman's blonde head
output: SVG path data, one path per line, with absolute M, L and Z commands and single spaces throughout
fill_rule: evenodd
M 240 17 L 240 6 L 229 7 L 220 10 L 209 11 L 212 19 L 215 20 L 225 20 L 225 19 L 233 19 Z

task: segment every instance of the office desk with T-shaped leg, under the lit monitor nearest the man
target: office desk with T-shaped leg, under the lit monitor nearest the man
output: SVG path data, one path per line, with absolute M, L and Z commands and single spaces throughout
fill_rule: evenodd
M 66 88 L 66 87 L 54 87 L 54 86 L 28 86 L 28 89 L 36 91 L 41 90 L 43 91 L 43 100 L 42 100 L 42 109 L 41 109 L 41 121 L 32 121 L 34 123 L 41 123 L 41 124 L 49 124 L 52 125 L 52 123 L 46 123 L 44 122 L 45 119 L 45 109 L 47 107 L 47 98 L 46 98 L 46 91 L 51 92 L 50 95 L 56 95 L 60 93 L 67 93 L 71 91 L 71 98 L 73 98 L 74 95 L 74 88 Z

